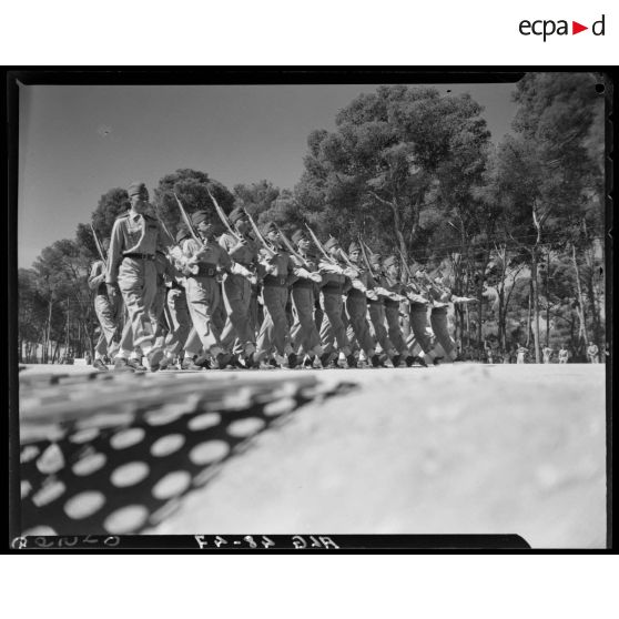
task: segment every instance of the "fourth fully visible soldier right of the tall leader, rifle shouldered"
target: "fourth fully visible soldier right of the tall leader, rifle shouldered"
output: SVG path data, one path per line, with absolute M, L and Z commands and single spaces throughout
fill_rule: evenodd
M 305 232 L 296 230 L 292 235 L 292 242 L 296 245 L 303 261 L 292 256 L 292 261 L 296 265 L 297 278 L 293 282 L 291 290 L 294 313 L 291 339 L 295 354 L 303 352 L 306 355 L 304 365 L 312 367 L 315 357 L 321 358 L 324 354 L 314 321 L 315 292 L 323 277 L 318 273 L 316 258 L 310 255 L 311 243 Z

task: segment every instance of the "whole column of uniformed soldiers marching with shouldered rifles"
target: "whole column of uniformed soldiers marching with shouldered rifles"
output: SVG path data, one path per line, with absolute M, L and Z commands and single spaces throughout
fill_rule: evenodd
M 346 253 L 310 227 L 291 239 L 274 223 L 261 232 L 243 209 L 226 216 L 213 196 L 214 211 L 191 216 L 177 201 L 183 223 L 172 239 L 149 214 L 144 183 L 132 183 L 129 197 L 103 241 L 106 256 L 95 235 L 101 260 L 89 285 L 100 371 L 105 358 L 115 372 L 154 372 L 176 361 L 196 371 L 409 367 L 456 357 L 447 307 L 474 300 L 412 274 L 394 255 L 383 260 L 361 239 Z M 217 239 L 219 219 L 226 232 Z

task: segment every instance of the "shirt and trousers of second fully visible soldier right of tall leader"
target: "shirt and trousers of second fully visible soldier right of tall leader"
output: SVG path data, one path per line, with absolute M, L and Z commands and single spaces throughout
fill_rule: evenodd
M 257 267 L 258 245 L 254 241 L 243 239 L 239 242 L 232 234 L 224 233 L 219 244 L 234 263 L 251 272 Z M 252 292 L 252 284 L 247 277 L 234 273 L 224 275 L 223 297 L 227 318 L 221 339 L 226 348 L 232 347 L 235 338 L 239 338 L 241 349 L 251 351 L 254 347 L 255 332 L 251 318 Z

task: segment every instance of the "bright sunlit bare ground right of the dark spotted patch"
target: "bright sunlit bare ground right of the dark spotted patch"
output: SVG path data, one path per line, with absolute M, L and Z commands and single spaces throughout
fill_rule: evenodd
M 359 388 L 257 435 L 145 532 L 518 534 L 534 548 L 606 546 L 605 366 L 329 374 Z

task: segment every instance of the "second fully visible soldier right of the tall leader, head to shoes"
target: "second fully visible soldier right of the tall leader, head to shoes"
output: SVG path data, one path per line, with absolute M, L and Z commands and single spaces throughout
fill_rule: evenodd
M 250 237 L 251 225 L 247 215 L 242 209 L 234 209 L 229 220 L 240 240 L 225 232 L 220 236 L 219 243 L 236 264 L 253 273 L 257 270 L 260 246 Z M 255 275 L 246 277 L 227 273 L 223 278 L 223 298 L 227 318 L 222 333 L 222 344 L 231 348 L 236 341 L 237 352 L 243 355 L 245 367 L 251 367 L 253 353 L 256 349 L 255 332 L 251 319 L 252 286 L 256 283 Z

